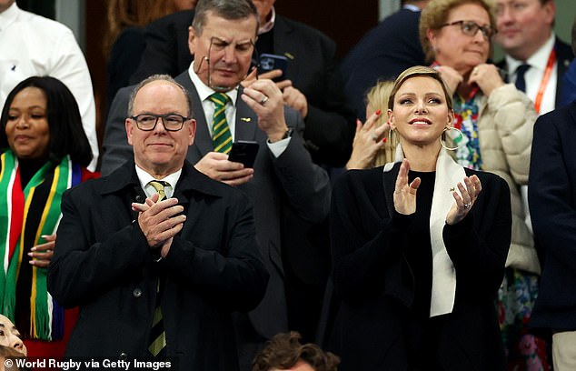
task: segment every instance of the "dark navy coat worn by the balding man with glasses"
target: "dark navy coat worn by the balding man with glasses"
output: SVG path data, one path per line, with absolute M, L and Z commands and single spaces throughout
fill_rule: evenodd
M 238 369 L 232 312 L 253 309 L 268 279 L 251 202 L 189 163 L 174 197 L 184 229 L 157 262 L 130 206 L 145 198 L 134 162 L 65 193 L 48 290 L 80 306 L 66 356 L 148 356 L 162 276 L 167 356 L 177 369 Z

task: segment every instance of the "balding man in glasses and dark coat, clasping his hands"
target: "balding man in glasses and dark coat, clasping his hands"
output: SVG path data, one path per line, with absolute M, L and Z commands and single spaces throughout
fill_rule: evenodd
M 195 122 L 172 77 L 144 80 L 129 107 L 134 160 L 63 198 L 48 290 L 80 306 L 65 355 L 237 370 L 232 312 L 268 279 L 251 203 L 185 161 Z

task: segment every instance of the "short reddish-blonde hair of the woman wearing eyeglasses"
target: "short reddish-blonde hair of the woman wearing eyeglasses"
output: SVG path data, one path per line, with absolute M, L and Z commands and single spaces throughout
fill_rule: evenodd
M 426 33 L 428 30 L 438 31 L 448 21 L 448 15 L 455 7 L 465 4 L 476 4 L 482 6 L 490 16 L 490 26 L 496 29 L 496 5 L 493 0 L 432 0 L 422 10 L 420 15 L 420 43 L 426 55 L 426 62 L 432 63 L 435 53 Z M 491 40 L 489 42 L 492 43 Z

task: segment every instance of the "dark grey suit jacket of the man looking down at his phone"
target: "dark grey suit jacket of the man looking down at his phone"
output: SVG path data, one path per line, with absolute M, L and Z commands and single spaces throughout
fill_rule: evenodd
M 208 152 L 214 151 L 214 145 L 200 97 L 188 72 L 178 75 L 176 81 L 184 85 L 192 100 L 196 134 L 194 145 L 188 148 L 186 158 L 195 164 Z M 104 175 L 132 156 L 124 129 L 131 90 L 131 87 L 121 89 L 110 110 L 103 144 Z M 239 94 L 242 94 L 242 89 Z M 303 128 L 302 117 L 290 108 L 286 108 L 284 114 L 286 123 L 296 130 L 288 147 L 276 158 L 266 145 L 266 135 L 258 128 L 257 116 L 240 96 L 236 101 L 234 139 L 255 140 L 260 144 L 253 165 L 254 177 L 240 188 L 253 200 L 256 235 L 264 265 L 271 275 L 262 303 L 250 313 L 254 328 L 267 338 L 288 330 L 284 265 L 289 264 L 292 269 L 298 270 L 299 266 L 308 266 L 311 259 L 305 246 L 286 246 L 283 243 L 283 216 L 290 210 L 299 218 L 317 224 L 324 220 L 330 208 L 328 175 L 321 167 L 313 164 L 299 134 Z M 284 249 L 295 249 L 295 253 L 290 254 L 291 260 L 283 259 Z M 306 263 L 301 264 L 302 261 Z

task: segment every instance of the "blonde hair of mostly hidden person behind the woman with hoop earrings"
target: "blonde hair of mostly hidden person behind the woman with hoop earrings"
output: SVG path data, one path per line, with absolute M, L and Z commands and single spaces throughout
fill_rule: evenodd
M 392 80 L 378 81 L 376 85 L 373 85 L 368 91 L 368 94 L 366 94 L 366 105 L 370 105 L 374 112 L 377 110 L 382 111 L 382 114 L 378 117 L 378 120 L 374 125 L 375 127 L 381 126 L 388 121 L 388 111 L 386 106 L 393 85 L 394 82 Z M 390 130 L 388 132 L 386 143 L 384 143 L 384 146 L 378 150 L 378 153 L 374 158 L 374 166 L 382 166 L 386 163 L 393 162 L 398 142 L 398 135 Z

